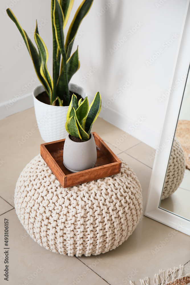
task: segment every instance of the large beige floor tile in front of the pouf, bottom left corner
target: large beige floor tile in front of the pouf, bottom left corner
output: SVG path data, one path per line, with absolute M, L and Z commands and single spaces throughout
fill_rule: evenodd
M 53 253 L 40 247 L 26 233 L 21 225 L 15 209 L 0 216 L 0 272 L 5 269 L 3 241 L 4 219 L 9 220 L 9 285 L 106 285 L 107 283 L 75 257 Z M 24 283 L 25 282 L 25 283 Z M 28 283 L 27 283 L 28 282 Z

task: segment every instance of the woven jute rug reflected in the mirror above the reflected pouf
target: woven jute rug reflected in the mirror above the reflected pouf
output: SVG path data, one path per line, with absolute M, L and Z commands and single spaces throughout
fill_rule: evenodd
M 186 168 L 190 170 L 190 121 L 179 120 L 175 136 L 183 148 Z

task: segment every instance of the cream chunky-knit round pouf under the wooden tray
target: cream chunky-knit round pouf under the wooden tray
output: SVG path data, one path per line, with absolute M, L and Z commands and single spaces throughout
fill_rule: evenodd
M 119 174 L 63 188 L 39 154 L 17 181 L 15 209 L 30 237 L 46 249 L 98 255 L 132 234 L 142 214 L 141 191 L 124 161 Z

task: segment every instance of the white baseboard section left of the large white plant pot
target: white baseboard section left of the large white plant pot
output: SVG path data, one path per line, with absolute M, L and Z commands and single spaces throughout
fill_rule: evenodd
M 18 99 L 13 98 L 12 100 L 0 104 L 0 119 L 24 111 L 33 106 L 32 93 L 25 94 Z

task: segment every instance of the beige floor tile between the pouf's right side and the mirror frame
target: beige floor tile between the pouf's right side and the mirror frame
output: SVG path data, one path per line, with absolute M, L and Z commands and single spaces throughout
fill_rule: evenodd
M 143 211 L 144 211 L 152 169 L 144 165 L 143 163 L 139 162 L 135 158 L 129 156 L 125 152 L 122 152 L 118 156 L 122 158 L 124 161 L 126 161 L 126 163 L 133 169 L 136 176 L 138 177 L 138 180 L 142 187 Z

